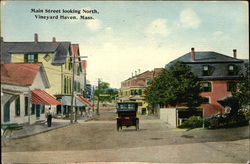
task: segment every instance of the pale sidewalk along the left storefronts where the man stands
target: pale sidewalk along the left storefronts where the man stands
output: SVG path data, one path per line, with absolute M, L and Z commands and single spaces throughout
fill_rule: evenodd
M 88 120 L 90 120 L 90 119 L 81 117 L 81 118 L 78 118 L 77 123 L 84 123 Z M 28 137 L 28 136 L 36 135 L 39 133 L 47 132 L 50 130 L 66 127 L 69 125 L 72 125 L 70 123 L 70 120 L 55 119 L 55 118 L 52 119 L 51 127 L 48 127 L 46 122 L 37 122 L 37 123 L 32 124 L 32 125 L 25 124 L 25 125 L 23 125 L 23 129 L 12 133 L 11 139 Z

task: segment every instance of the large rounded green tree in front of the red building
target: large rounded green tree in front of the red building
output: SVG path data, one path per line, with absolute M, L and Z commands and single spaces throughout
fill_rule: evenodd
M 145 90 L 149 104 L 197 107 L 202 103 L 198 78 L 183 63 L 164 69 Z

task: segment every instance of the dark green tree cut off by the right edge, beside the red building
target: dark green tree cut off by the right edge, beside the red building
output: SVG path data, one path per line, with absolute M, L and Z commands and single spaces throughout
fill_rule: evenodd
M 232 92 L 233 96 L 239 98 L 239 103 L 241 107 L 249 106 L 250 100 L 250 86 L 249 86 L 249 63 L 245 64 L 246 72 L 242 79 L 236 85 L 235 91 Z

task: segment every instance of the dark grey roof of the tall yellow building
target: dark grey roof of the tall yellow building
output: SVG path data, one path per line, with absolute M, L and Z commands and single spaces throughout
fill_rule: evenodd
M 11 54 L 55 53 L 52 64 L 64 64 L 70 42 L 1 42 L 1 63 L 10 63 Z

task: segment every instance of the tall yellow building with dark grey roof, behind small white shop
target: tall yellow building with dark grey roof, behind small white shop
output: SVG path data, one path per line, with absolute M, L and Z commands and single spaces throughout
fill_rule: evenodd
M 1 38 L 1 45 L 1 63 L 40 62 L 43 64 L 50 83 L 50 87 L 46 88 L 45 91 L 61 102 L 64 99 L 65 104 L 57 107 L 56 113 L 68 114 L 71 109 L 70 99 L 73 90 L 77 95 L 82 94 L 85 85 L 86 72 L 79 62 L 75 62 L 75 80 L 73 81 L 73 59 L 80 55 L 79 45 L 58 42 L 55 37 L 52 38 L 51 42 L 40 42 L 38 34 L 34 34 L 33 42 L 4 42 Z M 80 58 L 76 59 L 80 60 Z M 78 106 L 86 106 L 86 103 L 81 101 Z

